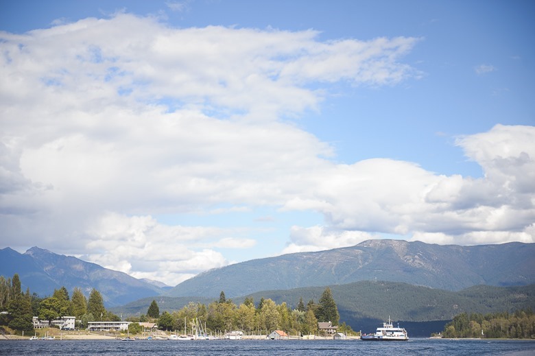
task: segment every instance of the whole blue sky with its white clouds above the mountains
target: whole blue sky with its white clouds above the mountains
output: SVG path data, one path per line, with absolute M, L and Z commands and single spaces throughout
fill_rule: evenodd
M 533 1 L 0 0 L 0 248 L 176 285 L 535 241 Z

